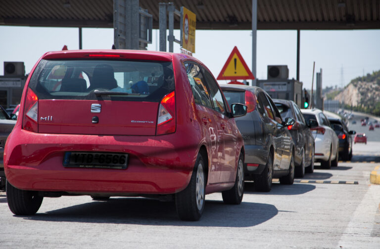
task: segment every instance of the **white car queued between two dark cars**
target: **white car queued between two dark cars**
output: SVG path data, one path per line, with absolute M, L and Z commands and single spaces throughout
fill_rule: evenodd
M 315 160 L 323 168 L 338 166 L 339 139 L 323 112 L 319 109 L 301 109 L 306 123 L 316 120 L 317 127 L 311 128 L 315 142 Z

